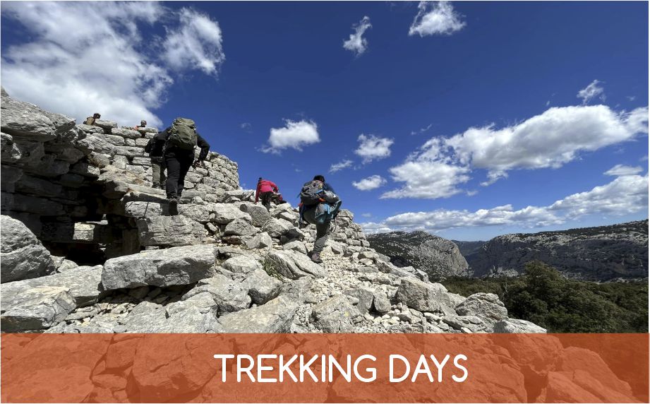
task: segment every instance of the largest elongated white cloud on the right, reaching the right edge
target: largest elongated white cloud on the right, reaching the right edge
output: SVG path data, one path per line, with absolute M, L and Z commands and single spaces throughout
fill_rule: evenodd
M 487 181 L 492 184 L 507 172 L 517 169 L 558 168 L 579 158 L 579 153 L 589 152 L 630 141 L 639 133 L 648 131 L 648 107 L 632 112 L 615 112 L 605 105 L 553 107 L 540 115 L 512 126 L 497 128 L 495 124 L 471 127 L 450 138 L 435 137 L 427 141 L 404 165 L 393 167 L 391 172 L 409 184 L 409 177 L 416 169 L 433 172 L 437 177 L 441 170 L 448 175 L 447 191 L 443 196 L 457 194 L 457 184 L 469 180 L 470 170 L 487 170 Z M 421 167 L 416 167 L 421 166 Z M 398 175 L 409 167 L 407 174 Z M 397 173 L 397 174 L 396 174 Z M 425 174 L 426 175 L 426 174 Z M 411 179 L 418 182 L 419 179 Z M 411 187 L 399 193 L 387 193 L 386 197 L 399 194 L 404 197 L 434 198 Z

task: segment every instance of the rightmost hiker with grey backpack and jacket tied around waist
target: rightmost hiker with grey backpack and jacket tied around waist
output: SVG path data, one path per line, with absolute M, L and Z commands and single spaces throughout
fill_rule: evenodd
M 339 213 L 341 201 L 325 177 L 316 175 L 300 191 L 300 218 L 316 226 L 314 248 L 307 255 L 315 263 L 323 263 L 320 252 L 325 248 L 327 236 L 332 232 L 330 223 Z

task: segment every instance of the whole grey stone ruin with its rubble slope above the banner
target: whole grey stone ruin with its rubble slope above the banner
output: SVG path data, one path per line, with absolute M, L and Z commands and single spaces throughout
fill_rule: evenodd
M 179 215 L 151 187 L 157 132 L 1 100 L 1 328 L 47 333 L 545 332 L 370 248 L 349 210 L 323 265 L 313 227 L 270 211 L 211 152 Z

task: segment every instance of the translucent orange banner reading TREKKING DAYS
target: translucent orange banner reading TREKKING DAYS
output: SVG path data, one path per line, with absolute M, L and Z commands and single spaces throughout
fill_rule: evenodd
M 1 399 L 647 402 L 648 344 L 648 334 L 3 334 Z

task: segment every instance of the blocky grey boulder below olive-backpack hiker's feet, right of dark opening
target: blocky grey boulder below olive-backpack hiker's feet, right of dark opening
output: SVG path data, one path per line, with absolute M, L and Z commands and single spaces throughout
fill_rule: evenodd
M 205 237 L 205 227 L 185 216 L 155 216 L 139 219 L 137 224 L 143 246 L 201 244 Z

